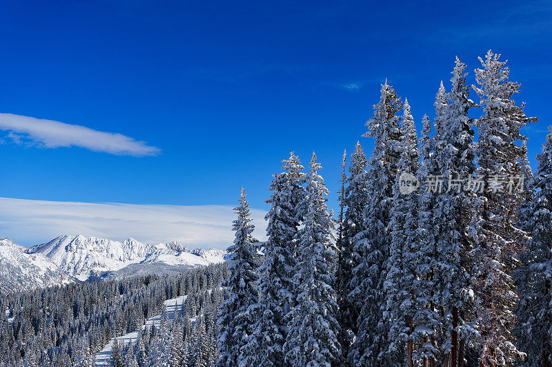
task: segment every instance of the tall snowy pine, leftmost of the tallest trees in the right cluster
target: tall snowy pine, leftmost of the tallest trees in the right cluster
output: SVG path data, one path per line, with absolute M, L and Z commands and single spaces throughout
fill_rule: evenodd
M 400 117 L 395 116 L 402 103 L 387 81 L 382 85 L 380 102 L 374 105 L 374 116 L 368 120 L 364 136 L 375 138 L 373 154 L 368 161 L 367 181 L 370 201 L 364 213 L 365 229 L 354 238 L 355 257 L 359 264 L 353 270 L 355 290 L 351 297 L 361 309 L 357 319 L 357 337 L 349 352 L 355 366 L 395 366 L 386 360 L 388 322 L 384 319 L 383 282 L 391 237 L 387 226 L 391 220 L 393 186 L 400 156 Z M 400 361 L 399 361 L 400 363 Z

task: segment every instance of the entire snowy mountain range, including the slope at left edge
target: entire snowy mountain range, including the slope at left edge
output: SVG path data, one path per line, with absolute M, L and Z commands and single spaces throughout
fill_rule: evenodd
M 202 266 L 224 262 L 226 255 L 219 249 L 190 250 L 180 242 L 145 244 L 133 238 L 119 242 L 60 235 L 31 248 L 4 238 L 0 239 L 0 291 L 86 281 L 108 273 L 128 276 L 144 269 Z

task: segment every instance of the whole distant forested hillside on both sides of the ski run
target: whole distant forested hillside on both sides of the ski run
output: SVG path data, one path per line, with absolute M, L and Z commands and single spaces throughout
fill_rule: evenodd
M 96 353 L 110 339 L 139 331 L 146 319 L 159 313 L 161 326 L 145 328 L 136 346 L 119 350 L 114 345 L 112 366 L 168 366 L 171 355 L 172 360 L 192 361 L 197 339 L 210 345 L 213 359 L 213 320 L 224 300 L 220 285 L 225 277 L 226 264 L 215 264 L 179 275 L 98 280 L 1 295 L 0 311 L 6 318 L 0 318 L 0 366 L 94 366 Z M 168 322 L 164 301 L 183 295 L 186 302 Z M 194 317 L 195 328 L 190 324 Z M 191 355 L 186 354 L 188 348 Z

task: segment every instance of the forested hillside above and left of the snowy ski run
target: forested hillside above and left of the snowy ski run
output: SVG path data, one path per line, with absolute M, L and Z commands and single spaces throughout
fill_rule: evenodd
M 163 312 L 165 300 L 188 295 L 180 315 L 195 317 L 209 305 L 207 315 L 212 317 L 224 297 L 219 286 L 225 277 L 226 264 L 216 264 L 179 275 L 99 280 L 1 295 L 0 310 L 6 315 L 0 318 L 1 365 L 92 366 L 94 355 L 112 337 L 138 331 L 146 319 Z M 147 346 L 155 344 L 156 333 L 161 332 L 145 331 Z

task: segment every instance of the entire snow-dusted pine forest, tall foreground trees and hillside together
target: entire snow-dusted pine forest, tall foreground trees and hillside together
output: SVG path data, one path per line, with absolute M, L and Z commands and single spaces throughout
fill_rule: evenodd
M 266 242 L 242 189 L 227 264 L 1 296 L 2 365 L 93 366 L 139 331 L 112 366 L 552 366 L 552 128 L 533 176 L 520 129 L 536 118 L 500 54 L 480 61 L 467 85 L 456 59 L 420 138 L 382 85 L 371 157 L 343 156 L 338 213 L 317 156 L 305 170 L 292 152 Z M 179 295 L 174 319 L 142 330 Z

